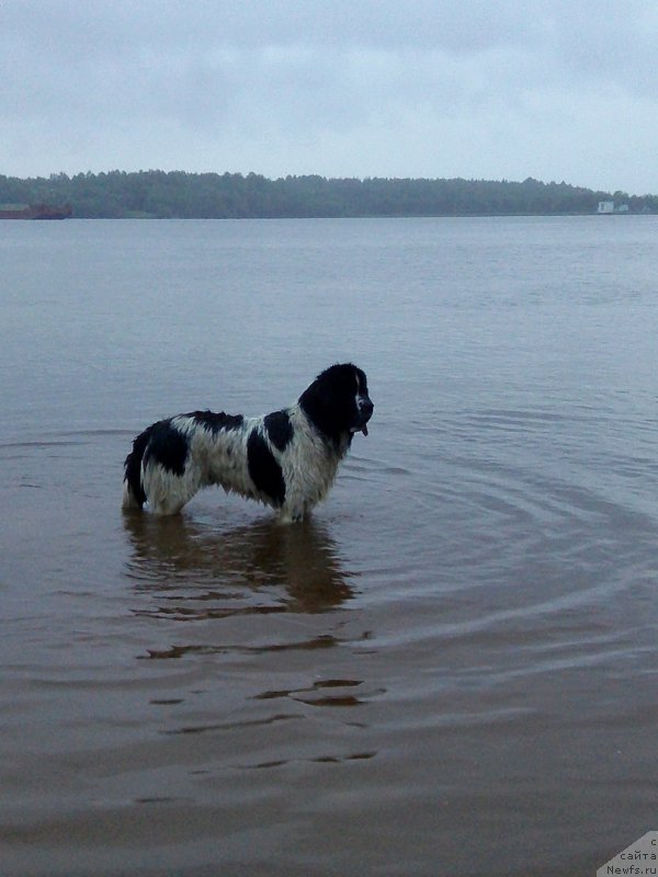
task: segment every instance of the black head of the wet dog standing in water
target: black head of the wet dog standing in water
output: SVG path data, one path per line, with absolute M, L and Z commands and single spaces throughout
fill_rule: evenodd
M 374 406 L 367 395 L 365 373 L 352 363 L 331 365 L 313 381 L 299 405 L 311 423 L 340 445 L 348 444 L 355 432 L 367 435 L 367 422 Z

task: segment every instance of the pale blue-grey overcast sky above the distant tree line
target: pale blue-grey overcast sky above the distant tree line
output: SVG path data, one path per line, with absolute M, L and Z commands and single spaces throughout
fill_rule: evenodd
M 0 173 L 658 193 L 651 0 L 0 0 Z

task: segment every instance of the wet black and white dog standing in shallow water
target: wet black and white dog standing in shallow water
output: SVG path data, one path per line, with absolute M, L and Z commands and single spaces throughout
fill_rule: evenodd
M 271 414 L 193 411 L 160 420 L 126 457 L 123 508 L 148 502 L 156 514 L 175 514 L 202 487 L 219 485 L 298 521 L 327 496 L 354 433 L 367 435 L 373 408 L 364 372 L 344 363 Z

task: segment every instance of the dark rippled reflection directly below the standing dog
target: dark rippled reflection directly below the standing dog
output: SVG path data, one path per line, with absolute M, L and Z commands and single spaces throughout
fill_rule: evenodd
M 184 516 L 124 515 L 131 578 L 181 620 L 242 613 L 322 612 L 353 595 L 336 542 L 311 519 L 260 519 L 231 529 Z M 283 590 L 282 590 L 283 589 Z

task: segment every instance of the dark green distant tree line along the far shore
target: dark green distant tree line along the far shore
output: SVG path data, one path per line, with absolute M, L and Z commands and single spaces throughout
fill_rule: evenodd
M 658 213 L 657 195 L 593 192 L 567 183 L 326 179 L 256 173 L 111 171 L 19 179 L 0 175 L 0 204 L 70 204 L 83 218 L 500 216 L 591 214 L 600 201 Z

